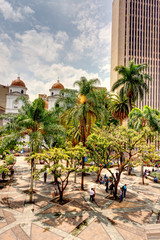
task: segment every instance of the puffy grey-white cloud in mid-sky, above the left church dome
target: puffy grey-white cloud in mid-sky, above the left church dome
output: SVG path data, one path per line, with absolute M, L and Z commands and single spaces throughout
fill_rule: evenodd
M 59 51 L 63 49 L 68 37 L 66 33 L 58 32 L 56 37 L 46 31 L 26 31 L 16 34 L 17 50 L 21 51 L 24 61 L 28 65 L 41 62 L 53 62 L 58 59 Z M 59 41 L 58 41 L 59 39 Z

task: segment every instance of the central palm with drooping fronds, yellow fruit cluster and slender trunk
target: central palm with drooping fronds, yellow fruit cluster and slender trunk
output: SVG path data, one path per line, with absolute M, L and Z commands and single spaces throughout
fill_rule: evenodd
M 74 86 L 78 85 L 79 87 L 77 102 L 73 108 L 68 109 L 61 116 L 61 123 L 68 126 L 68 128 L 74 128 L 74 144 L 78 143 L 76 140 L 80 140 L 83 146 L 86 146 L 91 126 L 99 119 L 100 109 L 98 109 L 95 94 L 95 84 L 97 83 L 99 83 L 98 79 L 87 80 L 85 77 L 81 77 L 79 81 L 76 81 Z M 84 164 L 85 157 L 82 158 L 82 190 L 84 190 Z

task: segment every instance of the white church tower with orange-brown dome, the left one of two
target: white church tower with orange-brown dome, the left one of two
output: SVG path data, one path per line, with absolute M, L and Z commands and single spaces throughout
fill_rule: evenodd
M 21 99 L 18 99 L 20 96 L 25 96 L 28 98 L 26 94 L 27 88 L 25 83 L 17 77 L 16 80 L 13 80 L 11 85 L 9 86 L 9 93 L 6 95 L 6 113 L 18 113 L 18 109 L 20 109 L 23 105 Z

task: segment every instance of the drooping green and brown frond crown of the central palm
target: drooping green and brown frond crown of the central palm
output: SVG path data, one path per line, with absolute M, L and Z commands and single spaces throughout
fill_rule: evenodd
M 76 102 L 60 116 L 60 122 L 69 131 L 68 137 L 73 145 L 80 141 L 85 145 L 93 124 L 100 119 L 102 122 L 107 117 L 104 115 L 106 101 L 101 96 L 106 96 L 106 93 L 99 94 L 95 90 L 95 84 L 98 82 L 98 79 L 87 80 L 85 77 L 76 81 L 74 84 L 79 87 Z

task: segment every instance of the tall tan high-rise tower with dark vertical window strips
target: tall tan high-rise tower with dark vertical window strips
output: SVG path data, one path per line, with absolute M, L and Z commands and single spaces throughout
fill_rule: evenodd
M 152 82 L 137 106 L 160 110 L 160 0 L 114 0 L 112 4 L 111 87 L 116 66 L 147 63 Z

